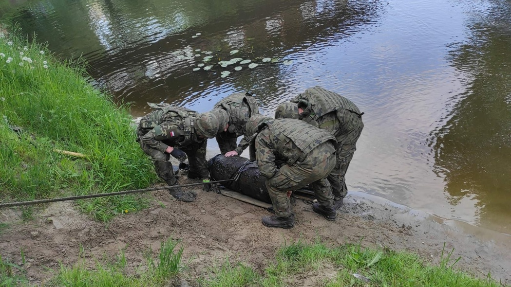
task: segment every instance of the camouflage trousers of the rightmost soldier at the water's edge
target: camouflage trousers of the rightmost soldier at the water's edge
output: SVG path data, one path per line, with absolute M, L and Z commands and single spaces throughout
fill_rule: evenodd
M 350 166 L 350 162 L 353 159 L 353 154 L 357 150 L 357 140 L 364 128 L 364 124 L 362 123 L 360 116 L 353 112 L 346 111 L 344 121 L 345 124 L 346 122 L 349 123 L 350 130 L 336 136 L 338 142 L 336 146 L 337 162 L 335 164 L 335 168 L 328 176 L 328 181 L 332 185 L 332 193 L 334 194 L 335 200 L 346 197 L 348 189 L 346 186 L 345 175 L 348 167 Z

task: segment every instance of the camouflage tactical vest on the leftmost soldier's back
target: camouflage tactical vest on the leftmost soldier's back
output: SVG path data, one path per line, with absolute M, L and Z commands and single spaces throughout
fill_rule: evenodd
M 152 129 L 157 129 L 161 123 L 166 121 L 171 121 L 172 118 L 179 117 L 183 123 L 183 130 L 177 131 L 179 135 L 184 136 L 184 140 L 189 140 L 192 137 L 192 134 L 195 133 L 194 118 L 197 116 L 197 112 L 177 107 L 171 106 L 167 103 L 154 104 L 147 103 L 151 108 L 156 109 L 155 111 L 149 113 L 144 116 L 140 120 L 140 124 L 138 125 L 137 134 L 140 136 L 145 135 Z

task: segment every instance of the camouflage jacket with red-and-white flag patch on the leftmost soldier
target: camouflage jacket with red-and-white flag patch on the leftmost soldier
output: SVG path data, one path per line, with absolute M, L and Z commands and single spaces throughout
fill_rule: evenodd
M 169 104 L 152 104 L 156 110 L 146 114 L 137 128 L 138 140 L 162 153 L 170 146 L 176 149 L 203 142 L 197 137 L 193 128 L 196 111 L 170 106 Z

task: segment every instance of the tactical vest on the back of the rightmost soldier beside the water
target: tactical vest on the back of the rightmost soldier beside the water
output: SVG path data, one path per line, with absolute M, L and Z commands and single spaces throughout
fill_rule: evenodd
M 314 113 L 318 117 L 338 109 L 349 110 L 360 116 L 363 114 L 352 101 L 335 92 L 323 89 L 320 86 L 306 89 L 305 92 L 299 94 L 293 102 L 298 102 L 301 99 L 307 100 L 312 104 Z

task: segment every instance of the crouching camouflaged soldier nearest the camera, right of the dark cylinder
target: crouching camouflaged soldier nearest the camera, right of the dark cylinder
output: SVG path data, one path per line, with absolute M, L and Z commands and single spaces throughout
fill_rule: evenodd
M 312 209 L 334 221 L 334 196 L 327 176 L 335 166 L 335 137 L 298 119 L 271 119 L 253 115 L 248 120 L 250 159 L 257 160 L 275 215 L 263 217 L 268 227 L 291 228 L 294 216 L 289 197 L 293 190 L 310 184 L 317 203 Z M 282 164 L 278 164 L 278 163 Z M 278 166 L 281 165 L 281 166 Z

